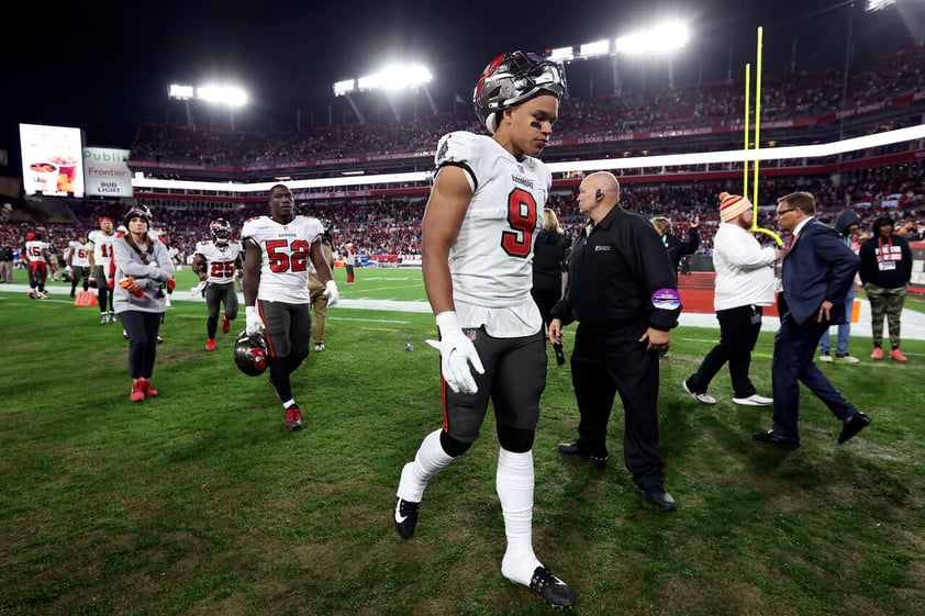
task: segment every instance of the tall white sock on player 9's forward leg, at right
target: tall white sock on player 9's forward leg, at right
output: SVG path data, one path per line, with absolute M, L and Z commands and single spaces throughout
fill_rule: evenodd
M 504 515 L 508 550 L 501 561 L 501 574 L 525 586 L 534 570 L 543 567 L 533 553 L 533 451 L 513 453 L 502 447 L 498 452 L 495 489 Z

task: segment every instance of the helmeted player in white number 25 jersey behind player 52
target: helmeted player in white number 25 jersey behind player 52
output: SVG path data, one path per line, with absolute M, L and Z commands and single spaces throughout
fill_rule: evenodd
M 234 279 L 244 268 L 241 244 L 231 240 L 231 225 L 224 219 L 209 224 L 212 239 L 200 242 L 192 256 L 192 271 L 205 282 L 202 294 L 209 317 L 205 320 L 205 350 L 215 350 L 215 333 L 219 331 L 219 309 L 222 313 L 222 333 L 231 331 L 231 322 L 237 317 L 237 292 Z

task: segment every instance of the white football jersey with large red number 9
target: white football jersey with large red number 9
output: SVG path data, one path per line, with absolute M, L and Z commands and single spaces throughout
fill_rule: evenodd
M 553 184 L 549 169 L 530 156 L 517 160 L 491 137 L 461 131 L 441 138 L 434 160 L 437 173 L 447 165 L 461 167 L 472 188 L 449 251 L 454 300 L 488 309 L 523 309 L 530 313 L 522 316 L 532 329 L 538 316 L 530 293 L 533 242 L 543 228 L 540 214 Z M 469 320 L 460 315 L 460 324 L 464 321 Z

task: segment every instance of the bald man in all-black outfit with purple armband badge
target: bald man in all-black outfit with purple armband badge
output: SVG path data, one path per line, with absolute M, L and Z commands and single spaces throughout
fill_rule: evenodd
M 618 200 L 620 182 L 606 171 L 589 175 L 579 187 L 579 211 L 591 221 L 572 247 L 549 338 L 560 344 L 562 326 L 579 323 L 571 381 L 581 419 L 578 440 L 559 445 L 559 453 L 604 463 L 608 422 L 620 393 L 623 456 L 636 492 L 671 512 L 677 505 L 665 491 L 658 455 L 658 357 L 671 345 L 681 298 L 658 232 Z

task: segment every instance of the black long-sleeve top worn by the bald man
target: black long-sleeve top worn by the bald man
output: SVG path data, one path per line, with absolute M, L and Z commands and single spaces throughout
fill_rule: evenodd
M 681 314 L 677 284 L 658 232 L 617 205 L 572 246 L 566 295 L 550 317 L 594 328 L 646 320 L 649 327 L 668 331 Z

